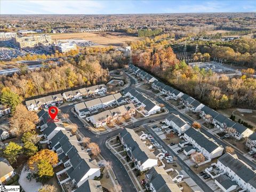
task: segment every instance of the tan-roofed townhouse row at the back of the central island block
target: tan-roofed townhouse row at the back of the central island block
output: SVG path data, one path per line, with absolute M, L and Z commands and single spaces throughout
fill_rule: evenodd
M 98 109 L 106 108 L 112 105 L 121 105 L 124 102 L 125 100 L 121 93 L 116 93 L 102 98 L 77 103 L 75 105 L 75 110 L 80 117 L 83 117 L 91 113 L 97 113 Z

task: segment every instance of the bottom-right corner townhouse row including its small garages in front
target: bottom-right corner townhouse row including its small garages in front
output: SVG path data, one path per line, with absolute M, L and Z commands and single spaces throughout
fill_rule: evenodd
M 256 191 L 256 172 L 240 160 L 237 155 L 226 153 L 222 155 L 217 163 L 213 163 L 218 167 L 218 172 L 214 172 L 213 166 L 206 168 L 207 172 L 215 183 L 225 192 L 229 191 Z M 214 173 L 214 174 L 212 174 Z

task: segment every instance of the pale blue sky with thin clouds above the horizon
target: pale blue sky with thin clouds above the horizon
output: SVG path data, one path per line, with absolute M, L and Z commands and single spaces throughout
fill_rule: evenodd
M 253 1 L 0 1 L 1 14 L 256 12 Z

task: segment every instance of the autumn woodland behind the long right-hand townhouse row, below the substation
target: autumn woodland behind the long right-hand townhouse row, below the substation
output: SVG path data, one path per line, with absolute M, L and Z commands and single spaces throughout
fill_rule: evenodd
M 219 76 L 211 70 L 193 68 L 179 61 L 171 47 L 134 51 L 132 61 L 134 65 L 214 109 L 256 108 L 256 79 L 251 77 L 254 69 L 243 70 L 244 75 L 237 78 Z

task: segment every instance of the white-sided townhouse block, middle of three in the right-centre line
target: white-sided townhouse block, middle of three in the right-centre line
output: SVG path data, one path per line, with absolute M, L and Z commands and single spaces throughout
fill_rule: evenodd
M 193 127 L 185 131 L 184 139 L 186 142 L 191 143 L 193 147 L 207 159 L 213 159 L 222 155 L 224 148 L 221 145 Z M 185 151 L 184 153 L 186 154 Z

